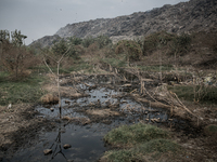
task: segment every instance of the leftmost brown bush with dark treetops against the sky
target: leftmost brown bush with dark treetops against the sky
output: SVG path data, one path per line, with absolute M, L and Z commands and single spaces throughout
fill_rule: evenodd
M 34 53 L 24 45 L 26 38 L 17 30 L 12 31 L 11 35 L 8 30 L 0 31 L 0 67 L 15 80 L 28 76 L 28 68 L 38 63 Z

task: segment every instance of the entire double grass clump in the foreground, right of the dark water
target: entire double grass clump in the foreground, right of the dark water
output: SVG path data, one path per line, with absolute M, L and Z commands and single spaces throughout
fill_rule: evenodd
M 128 149 L 111 150 L 105 152 L 102 160 L 107 162 L 131 162 L 131 161 L 153 161 L 162 154 L 175 156 L 181 151 L 181 147 L 165 139 L 168 132 L 149 124 L 123 125 L 108 132 L 104 139 L 116 147 L 127 147 Z

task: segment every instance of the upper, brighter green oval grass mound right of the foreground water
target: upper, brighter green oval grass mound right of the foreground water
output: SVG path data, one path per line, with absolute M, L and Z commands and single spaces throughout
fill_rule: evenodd
M 104 139 L 111 145 L 136 145 L 156 138 L 168 137 L 168 132 L 150 124 L 123 125 L 108 132 Z

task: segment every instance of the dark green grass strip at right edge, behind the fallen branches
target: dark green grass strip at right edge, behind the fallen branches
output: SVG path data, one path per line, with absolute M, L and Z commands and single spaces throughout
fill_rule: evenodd
M 215 86 L 200 86 L 200 85 L 177 85 L 168 86 L 179 98 L 184 100 L 217 104 L 217 87 Z

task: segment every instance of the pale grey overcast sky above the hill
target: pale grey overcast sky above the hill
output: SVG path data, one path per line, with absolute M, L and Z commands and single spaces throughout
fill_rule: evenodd
M 18 29 L 26 44 L 67 24 L 113 18 L 189 0 L 0 0 L 0 29 Z

